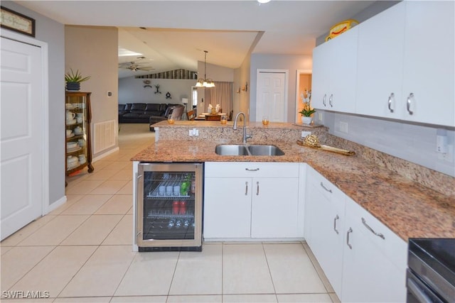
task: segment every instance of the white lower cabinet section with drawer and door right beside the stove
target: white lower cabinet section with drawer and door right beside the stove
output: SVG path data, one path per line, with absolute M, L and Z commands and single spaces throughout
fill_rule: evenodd
M 405 302 L 407 243 L 346 197 L 342 302 Z

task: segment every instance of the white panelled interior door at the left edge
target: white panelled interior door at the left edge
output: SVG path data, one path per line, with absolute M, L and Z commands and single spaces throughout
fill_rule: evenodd
M 43 211 L 41 48 L 1 38 L 1 240 Z

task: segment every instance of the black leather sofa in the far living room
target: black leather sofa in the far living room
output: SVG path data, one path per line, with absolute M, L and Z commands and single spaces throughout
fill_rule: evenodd
M 166 109 L 177 104 L 119 104 L 119 123 L 149 123 L 151 116 L 165 116 Z

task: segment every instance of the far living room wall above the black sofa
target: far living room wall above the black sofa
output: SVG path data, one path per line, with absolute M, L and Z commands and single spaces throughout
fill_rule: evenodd
M 191 99 L 191 87 L 196 84 L 193 79 L 147 79 L 150 87 L 144 87 L 144 80 L 134 77 L 119 79 L 119 104 L 127 103 L 181 103 L 182 98 Z M 161 94 L 155 94 L 155 85 L 159 84 Z M 166 92 L 171 99 L 166 99 Z M 189 105 L 188 105 L 189 109 Z

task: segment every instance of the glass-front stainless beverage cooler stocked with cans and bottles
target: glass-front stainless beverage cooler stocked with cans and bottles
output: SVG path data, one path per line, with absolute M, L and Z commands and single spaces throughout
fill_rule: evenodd
M 202 250 L 203 163 L 139 162 L 136 241 L 141 251 Z

